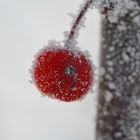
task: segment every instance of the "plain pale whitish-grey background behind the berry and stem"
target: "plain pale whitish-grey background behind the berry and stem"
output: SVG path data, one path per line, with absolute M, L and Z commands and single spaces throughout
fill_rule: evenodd
M 58 102 L 29 80 L 33 56 L 48 40 L 64 39 L 82 0 L 0 0 L 0 139 L 94 140 L 96 92 L 82 102 Z M 79 46 L 98 68 L 100 18 L 87 14 Z M 98 71 L 98 69 L 96 70 Z

